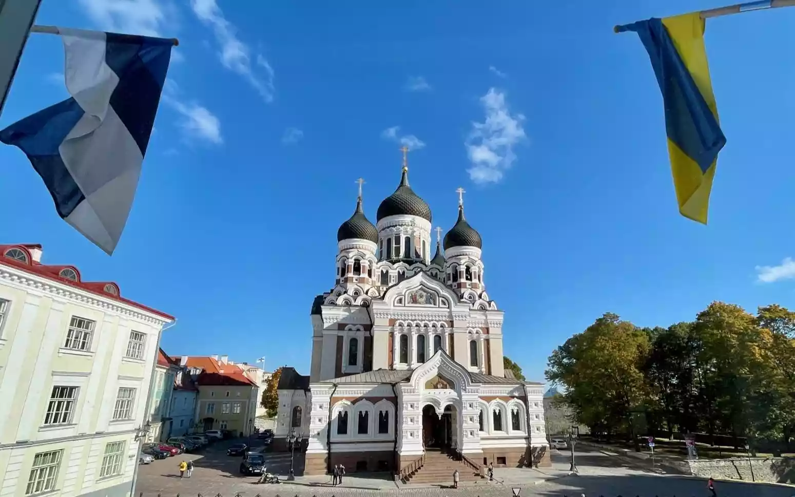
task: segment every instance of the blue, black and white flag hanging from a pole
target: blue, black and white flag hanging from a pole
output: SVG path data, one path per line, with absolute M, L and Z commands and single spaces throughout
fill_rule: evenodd
M 58 29 L 72 98 L 0 131 L 44 180 L 58 214 L 107 254 L 122 235 L 172 40 Z

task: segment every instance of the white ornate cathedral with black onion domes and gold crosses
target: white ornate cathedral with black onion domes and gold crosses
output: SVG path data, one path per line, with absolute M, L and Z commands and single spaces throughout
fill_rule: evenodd
M 337 230 L 335 285 L 312 303 L 310 374 L 285 367 L 278 384 L 274 444 L 303 441 L 304 474 L 336 464 L 408 474 L 439 454 L 467 468 L 549 465 L 541 383 L 502 367 L 504 313 L 486 291 L 462 193 L 442 243 L 409 186 L 405 149 L 375 224 L 360 180 Z

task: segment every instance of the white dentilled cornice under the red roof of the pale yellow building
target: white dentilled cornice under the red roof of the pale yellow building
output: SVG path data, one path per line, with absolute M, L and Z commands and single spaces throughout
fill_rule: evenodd
M 48 278 L 30 274 L 27 271 L 16 270 L 11 266 L 0 266 L 0 282 L 26 291 L 45 293 L 52 297 L 59 297 L 60 299 L 93 307 L 103 312 L 111 312 L 126 316 L 130 319 L 157 325 L 158 327 L 162 327 L 164 324 L 171 322 L 171 320 L 165 319 L 163 316 L 159 316 L 155 313 L 148 313 L 134 305 L 100 297 L 95 293 L 76 289 L 70 285 L 60 284 Z

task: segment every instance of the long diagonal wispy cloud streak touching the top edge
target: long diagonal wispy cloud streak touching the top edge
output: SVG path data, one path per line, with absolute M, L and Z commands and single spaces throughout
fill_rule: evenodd
M 196 17 L 212 28 L 215 41 L 220 45 L 219 57 L 223 67 L 241 76 L 246 83 L 254 87 L 262 99 L 273 102 L 273 68 L 264 56 L 257 54 L 255 62 L 257 67 L 263 69 L 262 73 L 254 71 L 251 62 L 251 49 L 237 37 L 237 29 L 219 8 L 215 0 L 191 0 L 191 7 Z

